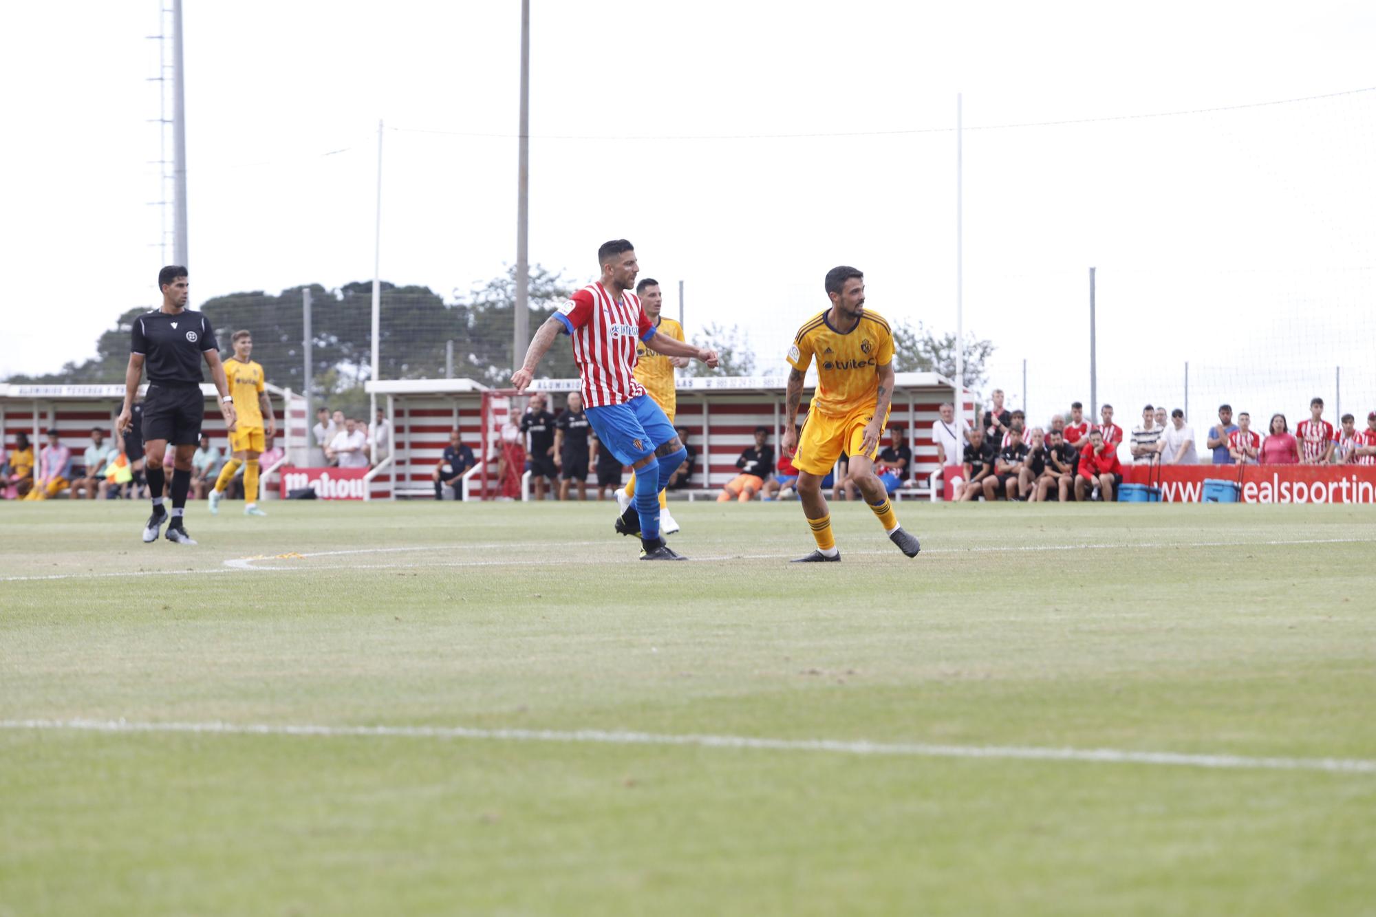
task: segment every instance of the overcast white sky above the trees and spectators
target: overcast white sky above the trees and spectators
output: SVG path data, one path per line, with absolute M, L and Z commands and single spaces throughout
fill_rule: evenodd
M 0 14 L 0 377 L 157 302 L 158 6 Z M 186 6 L 194 302 L 369 280 L 378 118 L 407 128 L 385 134 L 383 277 L 450 297 L 515 260 L 516 0 Z M 762 369 L 837 263 L 888 318 L 954 329 L 958 91 L 978 128 L 1376 85 L 1355 1 L 531 6 L 531 260 L 582 282 L 630 238 L 670 311 L 687 281 L 689 333 L 739 322 Z M 848 136 L 735 136 L 780 134 Z M 588 139 L 626 136 L 660 139 Z M 1293 416 L 1336 365 L 1344 409 L 1376 408 L 1376 92 L 967 129 L 965 151 L 966 328 L 1014 405 L 1024 358 L 1033 413 L 1088 402 L 1095 264 L 1120 419 L 1179 403 L 1185 361 L 1200 424 L 1222 398 Z

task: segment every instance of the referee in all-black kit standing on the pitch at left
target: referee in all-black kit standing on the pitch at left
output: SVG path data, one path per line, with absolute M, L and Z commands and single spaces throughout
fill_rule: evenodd
M 149 366 L 149 394 L 143 399 L 144 476 L 153 497 L 153 515 L 143 527 L 144 541 L 157 541 L 168 511 L 162 505 L 166 474 L 162 456 L 168 443 L 176 446 L 172 465 L 172 522 L 168 541 L 195 544 L 186 533 L 182 514 L 186 494 L 191 489 L 191 456 L 201 442 L 201 417 L 205 414 L 205 395 L 201 394 L 201 358 L 211 368 L 215 390 L 220 392 L 220 413 L 227 430 L 234 430 L 234 399 L 224 380 L 220 350 L 215 329 L 201 313 L 189 311 L 186 268 L 169 264 L 158 271 L 162 308 L 133 319 L 133 340 L 129 347 L 129 368 L 124 373 L 124 409 L 116 421 L 120 432 L 132 424 L 133 397 L 139 391 L 143 366 Z

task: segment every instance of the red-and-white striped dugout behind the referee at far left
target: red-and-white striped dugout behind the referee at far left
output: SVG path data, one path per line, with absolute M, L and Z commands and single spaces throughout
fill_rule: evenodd
M 305 398 L 290 388 L 271 383 L 264 386 L 272 413 L 277 417 L 277 445 L 285 456 L 281 461 L 261 471 L 263 496 L 275 496 L 268 479 L 277 478 L 279 470 L 289 464 L 304 464 L 307 457 L 308 430 L 305 420 Z M 139 399 L 147 394 L 147 383 L 139 386 Z M 205 397 L 205 419 L 201 432 L 211 438 L 211 445 L 224 456 L 230 447 L 230 436 L 220 414 L 219 395 L 215 386 L 201 384 Z M 28 434 L 33 445 L 33 457 L 48 445 L 47 432 L 56 430 L 63 446 L 72 450 L 73 471 L 83 475 L 83 453 L 91 445 L 91 431 L 105 432 L 107 443 L 118 442 L 114 421 L 124 405 L 124 386 L 43 386 L 0 383 L 0 430 L 4 431 L 4 452 L 8 456 L 17 446 L 18 434 Z M 37 471 L 36 471 L 37 474 Z

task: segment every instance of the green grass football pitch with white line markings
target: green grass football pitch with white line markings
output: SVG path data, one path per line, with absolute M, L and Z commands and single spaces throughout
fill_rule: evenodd
M 1376 913 L 1376 511 L 0 507 L 0 916 Z

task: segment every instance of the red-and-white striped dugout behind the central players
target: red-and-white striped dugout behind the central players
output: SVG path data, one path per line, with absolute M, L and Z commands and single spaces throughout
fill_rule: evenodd
M 804 410 L 812 391 L 815 373 L 804 388 Z M 687 498 L 716 497 L 724 483 L 739 474 L 736 458 L 754 445 L 754 431 L 771 431 L 769 443 L 779 456 L 783 438 L 786 376 L 700 376 L 677 381 L 678 410 L 676 427 L 688 431 L 688 445 L 696 452 L 692 486 L 681 492 Z M 527 390 L 549 395 L 549 410 L 559 413 L 568 392 L 579 390 L 577 379 L 538 379 Z M 479 465 L 461 489 L 464 500 L 513 496 L 497 481 L 495 461 L 499 428 L 512 412 L 524 412 L 526 397 L 508 390 L 486 387 L 471 379 L 400 379 L 367 383 L 367 391 L 380 402 L 392 425 L 392 464 L 378 470 L 367 497 L 433 497 L 435 465 L 440 461 L 450 431 L 455 427 L 461 441 L 473 450 Z M 903 496 L 930 497 L 933 472 L 938 468 L 932 424 L 943 402 L 958 403 L 955 383 L 937 373 L 896 373 L 889 428 L 908 431 L 912 470 Z M 965 392 L 963 416 L 974 416 L 974 394 Z M 888 445 L 885 436 L 883 445 Z M 589 475 L 596 481 L 596 475 Z M 528 497 L 528 487 L 517 490 Z

